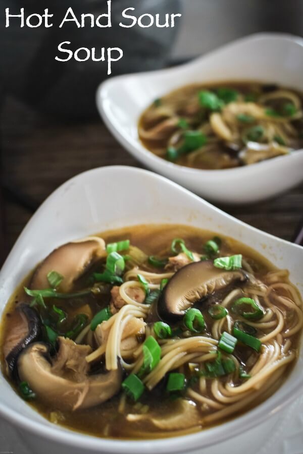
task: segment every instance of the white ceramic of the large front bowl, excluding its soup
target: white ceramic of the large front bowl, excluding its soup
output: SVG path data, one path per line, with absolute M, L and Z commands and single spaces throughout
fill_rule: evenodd
M 225 214 L 184 188 L 133 167 L 97 168 L 55 191 L 25 227 L 0 272 L 5 304 L 26 274 L 58 245 L 107 229 L 142 223 L 184 223 L 231 236 L 288 268 L 303 293 L 303 248 L 260 232 Z M 21 432 L 30 452 L 81 454 L 212 454 L 257 452 L 280 418 L 279 411 L 303 393 L 303 351 L 287 383 L 270 399 L 226 424 L 184 437 L 117 441 L 72 432 L 49 423 L 28 406 L 0 376 L 0 415 Z M 257 426 L 257 427 L 256 427 Z

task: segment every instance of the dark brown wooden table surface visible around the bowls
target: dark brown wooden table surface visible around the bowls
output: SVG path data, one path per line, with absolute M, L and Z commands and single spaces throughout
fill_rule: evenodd
M 2 259 L 36 207 L 67 179 L 104 165 L 139 166 L 99 119 L 80 124 L 56 122 L 8 98 L 1 123 Z M 301 222 L 302 207 L 303 185 L 259 204 L 220 206 L 286 240 L 293 238 Z

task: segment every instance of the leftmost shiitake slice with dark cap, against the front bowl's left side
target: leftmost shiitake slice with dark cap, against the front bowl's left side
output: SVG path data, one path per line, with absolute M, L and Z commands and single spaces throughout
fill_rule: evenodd
M 29 344 L 36 341 L 41 333 L 41 320 L 27 304 L 20 304 L 12 315 L 13 329 L 10 329 L 3 346 L 8 373 L 16 375 L 18 356 Z

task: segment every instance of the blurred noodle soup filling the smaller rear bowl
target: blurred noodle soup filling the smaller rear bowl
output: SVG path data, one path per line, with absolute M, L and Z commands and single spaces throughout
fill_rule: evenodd
M 143 112 L 139 137 L 157 156 L 187 167 L 254 164 L 303 146 L 302 94 L 259 82 L 188 85 Z

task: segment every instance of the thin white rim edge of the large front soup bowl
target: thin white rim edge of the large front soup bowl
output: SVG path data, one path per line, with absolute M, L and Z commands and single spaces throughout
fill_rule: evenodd
M 107 166 L 107 167 L 99 167 L 95 169 L 91 169 L 90 171 L 83 172 L 72 179 L 65 182 L 61 185 L 58 189 L 56 189 L 40 206 L 40 208 L 36 211 L 33 217 L 29 220 L 27 225 L 24 228 L 29 229 L 31 223 L 33 222 L 36 217 L 38 217 L 42 213 L 42 209 L 47 207 L 47 203 L 49 200 L 52 200 L 54 197 L 57 197 L 62 192 L 64 192 L 67 186 L 71 185 L 71 183 L 75 182 L 75 180 L 85 180 L 89 178 L 92 173 L 96 174 L 103 174 L 104 172 L 112 171 L 115 169 L 117 172 L 130 172 L 132 176 L 135 178 L 136 175 L 148 175 L 150 178 L 154 178 L 155 182 L 163 182 L 165 185 L 171 186 L 173 190 L 182 191 L 188 194 L 188 196 L 193 197 L 196 200 L 200 200 L 201 204 L 211 205 L 208 202 L 201 200 L 199 197 L 192 194 L 190 191 L 184 189 L 183 187 L 177 185 L 176 183 L 171 182 L 170 180 L 154 174 L 153 172 L 146 171 L 136 167 L 129 167 L 129 166 Z M 102 181 L 102 178 L 99 179 Z M 211 205 L 213 206 L 213 205 Z M 220 210 L 219 208 L 214 207 L 215 211 L 218 211 L 219 214 L 225 215 L 227 217 L 232 217 Z M 253 228 L 242 221 L 238 221 L 235 219 L 236 222 L 240 222 L 246 228 L 257 231 L 259 235 L 261 234 L 263 237 L 271 237 L 275 238 L 275 240 L 279 243 L 286 243 L 289 246 L 296 247 L 301 249 L 299 246 L 291 245 L 289 242 L 285 240 L 280 240 L 272 235 L 264 233 L 256 228 Z M 186 222 L 185 222 L 186 223 Z M 23 232 L 24 232 L 23 231 Z M 22 234 L 21 234 L 22 236 Z M 20 236 L 20 237 L 21 237 Z M 19 238 L 20 238 L 19 237 Z M 18 240 L 17 240 L 18 242 Z M 12 255 L 9 254 L 8 259 Z M 302 250 L 303 252 L 303 250 Z M 7 260 L 8 260 L 7 259 Z M 244 413 L 243 415 L 232 419 L 226 423 L 211 427 L 206 430 L 201 430 L 199 432 L 183 435 L 183 436 L 176 436 L 170 438 L 163 438 L 163 439 L 147 439 L 147 440 L 115 440 L 115 439 L 106 439 L 106 438 L 98 438 L 92 435 L 86 435 L 81 432 L 74 432 L 67 428 L 62 428 L 61 426 L 56 426 L 52 423 L 49 423 L 49 426 L 45 424 L 43 421 L 36 421 L 27 416 L 23 416 L 22 414 L 18 413 L 15 409 L 9 409 L 4 404 L 0 402 L 0 414 L 5 417 L 6 420 L 17 425 L 27 432 L 33 433 L 38 435 L 42 438 L 51 439 L 53 441 L 62 443 L 66 446 L 77 446 L 80 448 L 85 449 L 86 451 L 90 450 L 98 450 L 101 452 L 110 452 L 110 453 L 125 453 L 125 454 L 141 454 L 142 449 L 145 450 L 147 454 L 154 454 L 155 449 L 158 449 L 159 452 L 182 452 L 184 448 L 188 450 L 193 450 L 197 448 L 204 448 L 208 447 L 212 444 L 218 444 L 222 441 L 226 441 L 234 436 L 239 435 L 257 425 L 260 425 L 263 421 L 265 421 L 268 417 L 272 416 L 273 414 L 281 411 L 286 405 L 288 405 L 291 401 L 296 399 L 301 393 L 303 388 L 303 377 L 301 380 L 301 386 L 298 386 L 296 389 L 288 389 L 284 396 L 280 396 L 279 390 L 277 390 L 269 399 L 264 401 L 262 404 L 258 405 L 255 409 Z M 21 399 L 16 394 L 16 399 Z M 185 444 L 186 443 L 186 444 Z

